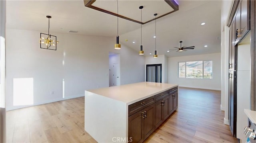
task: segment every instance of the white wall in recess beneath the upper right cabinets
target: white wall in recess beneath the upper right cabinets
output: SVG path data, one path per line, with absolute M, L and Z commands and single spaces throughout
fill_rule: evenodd
M 250 36 L 250 35 L 248 35 Z M 250 109 L 250 44 L 238 45 L 237 51 L 237 122 L 236 137 L 241 139 L 240 143 L 246 142 L 244 127 L 248 125 L 248 117 L 244 109 Z

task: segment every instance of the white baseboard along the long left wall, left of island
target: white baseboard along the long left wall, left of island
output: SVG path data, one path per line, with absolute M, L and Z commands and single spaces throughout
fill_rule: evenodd
M 67 100 L 67 99 L 72 99 L 72 98 L 78 98 L 78 97 L 82 97 L 82 96 L 84 96 L 84 94 L 77 94 L 77 95 L 73 95 L 73 96 L 66 96 L 65 98 L 57 98 L 57 99 L 37 102 L 37 103 L 34 103 L 33 105 L 11 106 L 11 107 L 6 107 L 6 111 L 16 110 L 16 109 L 20 109 L 20 108 L 26 108 L 26 107 L 31 107 L 31 106 L 37 106 L 37 105 L 41 105 L 41 104 L 47 104 L 47 103 L 52 103 L 52 102 L 57 102 L 57 101 Z

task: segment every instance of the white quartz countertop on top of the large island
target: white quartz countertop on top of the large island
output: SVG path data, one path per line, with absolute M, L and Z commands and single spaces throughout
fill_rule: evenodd
M 176 86 L 178 86 L 178 84 L 138 82 L 134 84 L 98 88 L 87 91 L 125 102 L 126 104 L 130 105 Z

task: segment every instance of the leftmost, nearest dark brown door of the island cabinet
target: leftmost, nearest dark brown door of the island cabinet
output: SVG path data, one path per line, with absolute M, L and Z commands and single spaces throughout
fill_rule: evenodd
M 144 141 L 144 115 L 137 112 L 128 118 L 128 136 L 132 137 L 133 143 L 142 143 Z

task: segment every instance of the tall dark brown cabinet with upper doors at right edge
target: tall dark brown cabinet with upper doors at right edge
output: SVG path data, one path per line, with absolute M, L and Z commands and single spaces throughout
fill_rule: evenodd
M 234 0 L 227 26 L 229 31 L 229 73 L 228 73 L 228 98 L 229 98 L 229 124 L 232 135 L 236 137 L 237 116 L 237 47 L 240 41 L 250 30 L 250 0 Z

